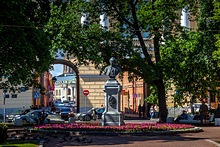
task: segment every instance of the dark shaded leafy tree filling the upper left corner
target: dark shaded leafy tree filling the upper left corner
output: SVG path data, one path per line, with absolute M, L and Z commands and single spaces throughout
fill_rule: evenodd
M 1 0 L 0 7 L 0 89 L 40 86 L 36 79 L 53 61 L 50 41 L 43 31 L 49 1 Z

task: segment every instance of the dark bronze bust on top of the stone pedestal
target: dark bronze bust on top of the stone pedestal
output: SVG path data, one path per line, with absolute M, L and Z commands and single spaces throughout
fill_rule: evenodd
M 117 66 L 117 60 L 114 57 L 111 57 L 109 62 L 110 65 L 105 68 L 104 74 L 111 79 L 115 79 L 118 73 L 121 72 L 121 68 Z

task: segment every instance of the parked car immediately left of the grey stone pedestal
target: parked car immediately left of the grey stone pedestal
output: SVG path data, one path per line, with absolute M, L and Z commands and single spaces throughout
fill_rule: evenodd
M 105 108 L 94 108 L 95 114 L 97 115 L 98 119 L 102 118 L 102 113 L 105 111 Z M 75 119 L 80 121 L 90 121 L 92 119 L 92 111 L 93 109 L 90 109 L 87 112 L 77 113 L 75 115 Z

